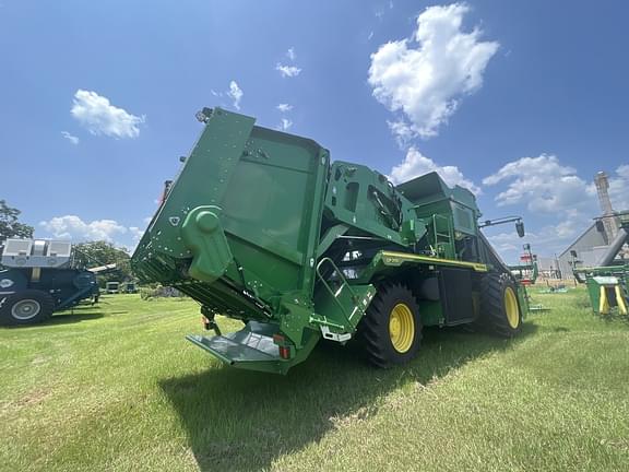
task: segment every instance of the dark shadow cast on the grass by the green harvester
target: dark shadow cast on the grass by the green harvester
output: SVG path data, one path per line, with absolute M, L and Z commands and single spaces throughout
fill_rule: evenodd
M 511 341 L 427 329 L 417 358 L 389 370 L 368 366 L 352 349 L 325 343 L 287 376 L 212 364 L 206 371 L 164 379 L 159 386 L 180 415 L 202 471 L 260 470 L 320 440 L 343 418 L 373 414 L 396 387 L 437 381 L 479 357 L 512 349 L 536 329 L 525 323 Z

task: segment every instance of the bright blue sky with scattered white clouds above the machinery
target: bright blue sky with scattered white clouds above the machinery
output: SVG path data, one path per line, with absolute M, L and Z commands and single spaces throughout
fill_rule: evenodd
M 508 260 L 629 208 L 622 1 L 0 0 L 0 198 L 39 237 L 133 247 L 219 105 L 403 180 L 477 192 Z M 286 105 L 278 109 L 278 105 Z

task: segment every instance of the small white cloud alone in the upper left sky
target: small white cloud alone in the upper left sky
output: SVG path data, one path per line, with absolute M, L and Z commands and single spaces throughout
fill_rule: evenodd
M 132 115 L 111 105 L 107 97 L 84 90 L 74 94 L 70 113 L 92 134 L 117 139 L 138 138 L 140 125 L 145 121 L 144 116 Z

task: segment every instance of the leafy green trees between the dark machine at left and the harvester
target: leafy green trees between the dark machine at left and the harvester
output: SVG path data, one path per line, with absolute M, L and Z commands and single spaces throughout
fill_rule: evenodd
M 75 263 L 80 267 L 93 268 L 105 264 L 116 264 L 116 271 L 100 275 L 99 282 L 126 281 L 133 279 L 131 257 L 127 249 L 117 248 L 111 243 L 98 240 L 74 245 Z

